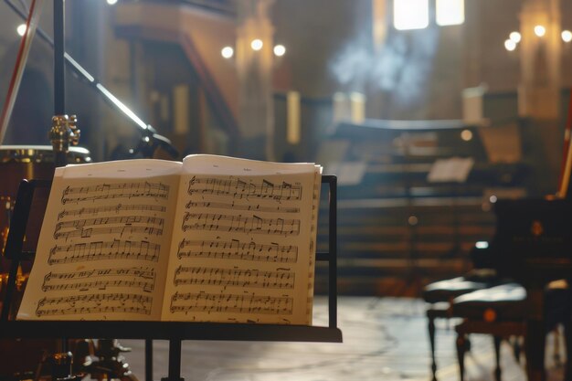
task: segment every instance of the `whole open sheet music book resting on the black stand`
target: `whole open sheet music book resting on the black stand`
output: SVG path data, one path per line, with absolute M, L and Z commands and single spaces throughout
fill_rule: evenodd
M 17 318 L 310 325 L 320 185 L 215 155 L 58 168 Z

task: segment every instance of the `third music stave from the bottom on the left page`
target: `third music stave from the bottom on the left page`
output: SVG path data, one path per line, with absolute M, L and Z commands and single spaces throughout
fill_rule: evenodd
M 135 259 L 156 262 L 161 245 L 148 241 L 113 239 L 72 245 L 56 245 L 49 250 L 48 264 L 89 262 L 104 259 Z

